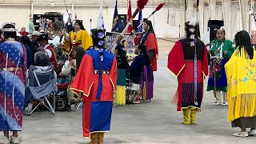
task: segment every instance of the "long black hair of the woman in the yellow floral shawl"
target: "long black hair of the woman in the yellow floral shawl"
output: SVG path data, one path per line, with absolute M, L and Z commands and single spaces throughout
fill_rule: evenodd
M 238 47 L 240 55 L 241 48 L 244 47 L 245 54 L 248 55 L 250 59 L 254 58 L 254 49 L 250 42 L 250 35 L 246 30 L 241 30 L 237 34 L 235 34 L 234 41 L 236 47 Z

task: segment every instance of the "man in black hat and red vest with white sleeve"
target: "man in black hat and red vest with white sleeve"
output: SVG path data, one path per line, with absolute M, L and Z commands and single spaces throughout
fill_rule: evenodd
M 41 34 L 39 35 L 38 42 L 40 46 L 43 46 L 44 50 L 46 50 L 46 54 L 50 58 L 50 63 L 54 64 L 54 69 L 57 69 L 57 60 L 54 53 L 54 49 L 48 43 L 48 39 L 49 38 L 47 34 Z

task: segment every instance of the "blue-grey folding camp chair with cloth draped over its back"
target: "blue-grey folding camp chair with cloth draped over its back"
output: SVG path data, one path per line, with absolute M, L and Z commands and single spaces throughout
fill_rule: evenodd
M 55 114 L 55 106 L 51 106 L 48 99 L 50 98 L 50 95 L 53 94 L 54 101 L 54 92 L 57 91 L 54 73 L 54 66 L 52 65 L 48 67 L 30 66 L 28 78 L 29 83 L 25 90 L 25 103 L 27 104 L 33 98 L 38 99 L 39 102 L 31 112 L 27 111 L 27 114 L 32 114 L 41 104 L 50 110 L 52 114 Z M 53 105 L 55 105 L 55 102 L 53 102 Z

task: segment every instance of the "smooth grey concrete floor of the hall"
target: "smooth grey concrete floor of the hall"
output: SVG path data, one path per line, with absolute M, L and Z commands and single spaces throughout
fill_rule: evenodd
M 176 112 L 176 106 L 170 103 L 177 80 L 166 69 L 167 55 L 174 42 L 158 40 L 158 43 L 160 54 L 158 71 L 154 74 L 154 99 L 140 105 L 114 107 L 111 131 L 106 133 L 105 143 L 255 143 L 256 137 L 232 136 L 239 129 L 231 128 L 227 122 L 227 106 L 212 106 L 214 97 L 211 92 L 205 92 L 198 125 L 180 124 L 182 113 Z M 90 141 L 82 138 L 82 110 L 25 115 L 19 140 L 22 144 L 82 144 Z

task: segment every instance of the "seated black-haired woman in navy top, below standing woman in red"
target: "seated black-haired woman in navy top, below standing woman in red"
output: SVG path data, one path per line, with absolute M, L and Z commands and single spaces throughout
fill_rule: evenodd
M 138 54 L 130 65 L 130 80 L 138 84 L 141 80 L 143 66 L 150 66 L 150 57 L 146 53 L 146 46 L 140 43 L 134 50 Z

